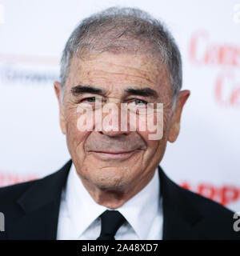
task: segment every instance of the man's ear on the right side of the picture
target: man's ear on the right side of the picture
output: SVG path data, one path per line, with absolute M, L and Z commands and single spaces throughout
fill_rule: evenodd
M 178 94 L 176 106 L 170 120 L 170 130 L 168 132 L 167 140 L 174 142 L 178 138 L 180 131 L 180 120 L 182 114 L 182 108 L 186 103 L 187 98 L 190 96 L 190 90 L 181 90 Z

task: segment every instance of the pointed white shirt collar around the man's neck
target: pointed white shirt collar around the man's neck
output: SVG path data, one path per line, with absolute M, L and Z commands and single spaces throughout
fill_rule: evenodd
M 139 239 L 146 239 L 153 219 L 160 212 L 159 186 L 157 168 L 154 177 L 138 194 L 135 194 L 123 206 L 115 209 L 126 218 Z M 81 235 L 102 212 L 112 210 L 106 206 L 99 205 L 91 198 L 78 177 L 74 163 L 70 167 L 70 174 L 66 182 L 66 207 L 70 214 L 76 237 Z

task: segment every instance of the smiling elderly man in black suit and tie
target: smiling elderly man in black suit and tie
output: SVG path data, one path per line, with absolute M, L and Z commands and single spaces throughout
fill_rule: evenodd
M 2 238 L 239 238 L 230 210 L 182 189 L 158 166 L 166 142 L 178 138 L 190 95 L 181 87 L 178 46 L 161 22 L 130 8 L 83 20 L 54 82 L 71 159 L 0 190 Z

